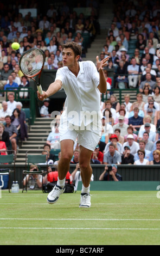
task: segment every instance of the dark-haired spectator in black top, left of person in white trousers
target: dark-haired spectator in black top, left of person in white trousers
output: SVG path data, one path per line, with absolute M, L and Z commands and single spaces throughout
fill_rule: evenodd
M 129 81 L 128 81 L 128 78 L 125 76 L 127 74 L 127 67 L 124 66 L 123 60 L 120 60 L 119 66 L 116 70 L 116 74 L 118 76 L 116 77 L 116 87 L 115 88 L 118 88 L 119 83 L 124 83 L 125 88 L 127 89 L 127 83 Z

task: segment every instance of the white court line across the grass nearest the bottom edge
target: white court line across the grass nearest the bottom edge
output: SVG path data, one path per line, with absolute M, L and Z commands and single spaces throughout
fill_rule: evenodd
M 160 228 L 33 228 L 33 227 L 0 227 L 0 229 L 67 229 L 67 230 L 160 230 Z

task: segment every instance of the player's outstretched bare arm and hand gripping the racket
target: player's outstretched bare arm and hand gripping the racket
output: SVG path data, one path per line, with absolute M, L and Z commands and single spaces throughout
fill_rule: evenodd
M 62 81 L 56 80 L 50 84 L 50 86 L 48 87 L 46 92 L 43 91 L 43 94 L 40 94 L 39 91 L 37 91 L 37 96 L 38 96 L 39 100 L 43 101 L 47 97 L 55 94 L 58 90 L 61 89 L 61 87 L 62 87 Z

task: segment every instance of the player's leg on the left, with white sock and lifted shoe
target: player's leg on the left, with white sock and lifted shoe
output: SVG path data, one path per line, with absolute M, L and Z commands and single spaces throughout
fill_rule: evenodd
M 59 199 L 60 195 L 65 191 L 65 179 L 69 170 L 69 164 L 73 156 L 72 139 L 61 141 L 61 159 L 58 164 L 58 180 L 53 190 L 48 194 L 47 202 L 54 204 Z

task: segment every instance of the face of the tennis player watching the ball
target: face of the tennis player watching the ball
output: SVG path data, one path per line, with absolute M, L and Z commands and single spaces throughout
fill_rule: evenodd
M 63 66 L 73 66 L 75 62 L 79 59 L 78 56 L 75 57 L 75 54 L 71 48 L 63 48 L 62 51 Z

